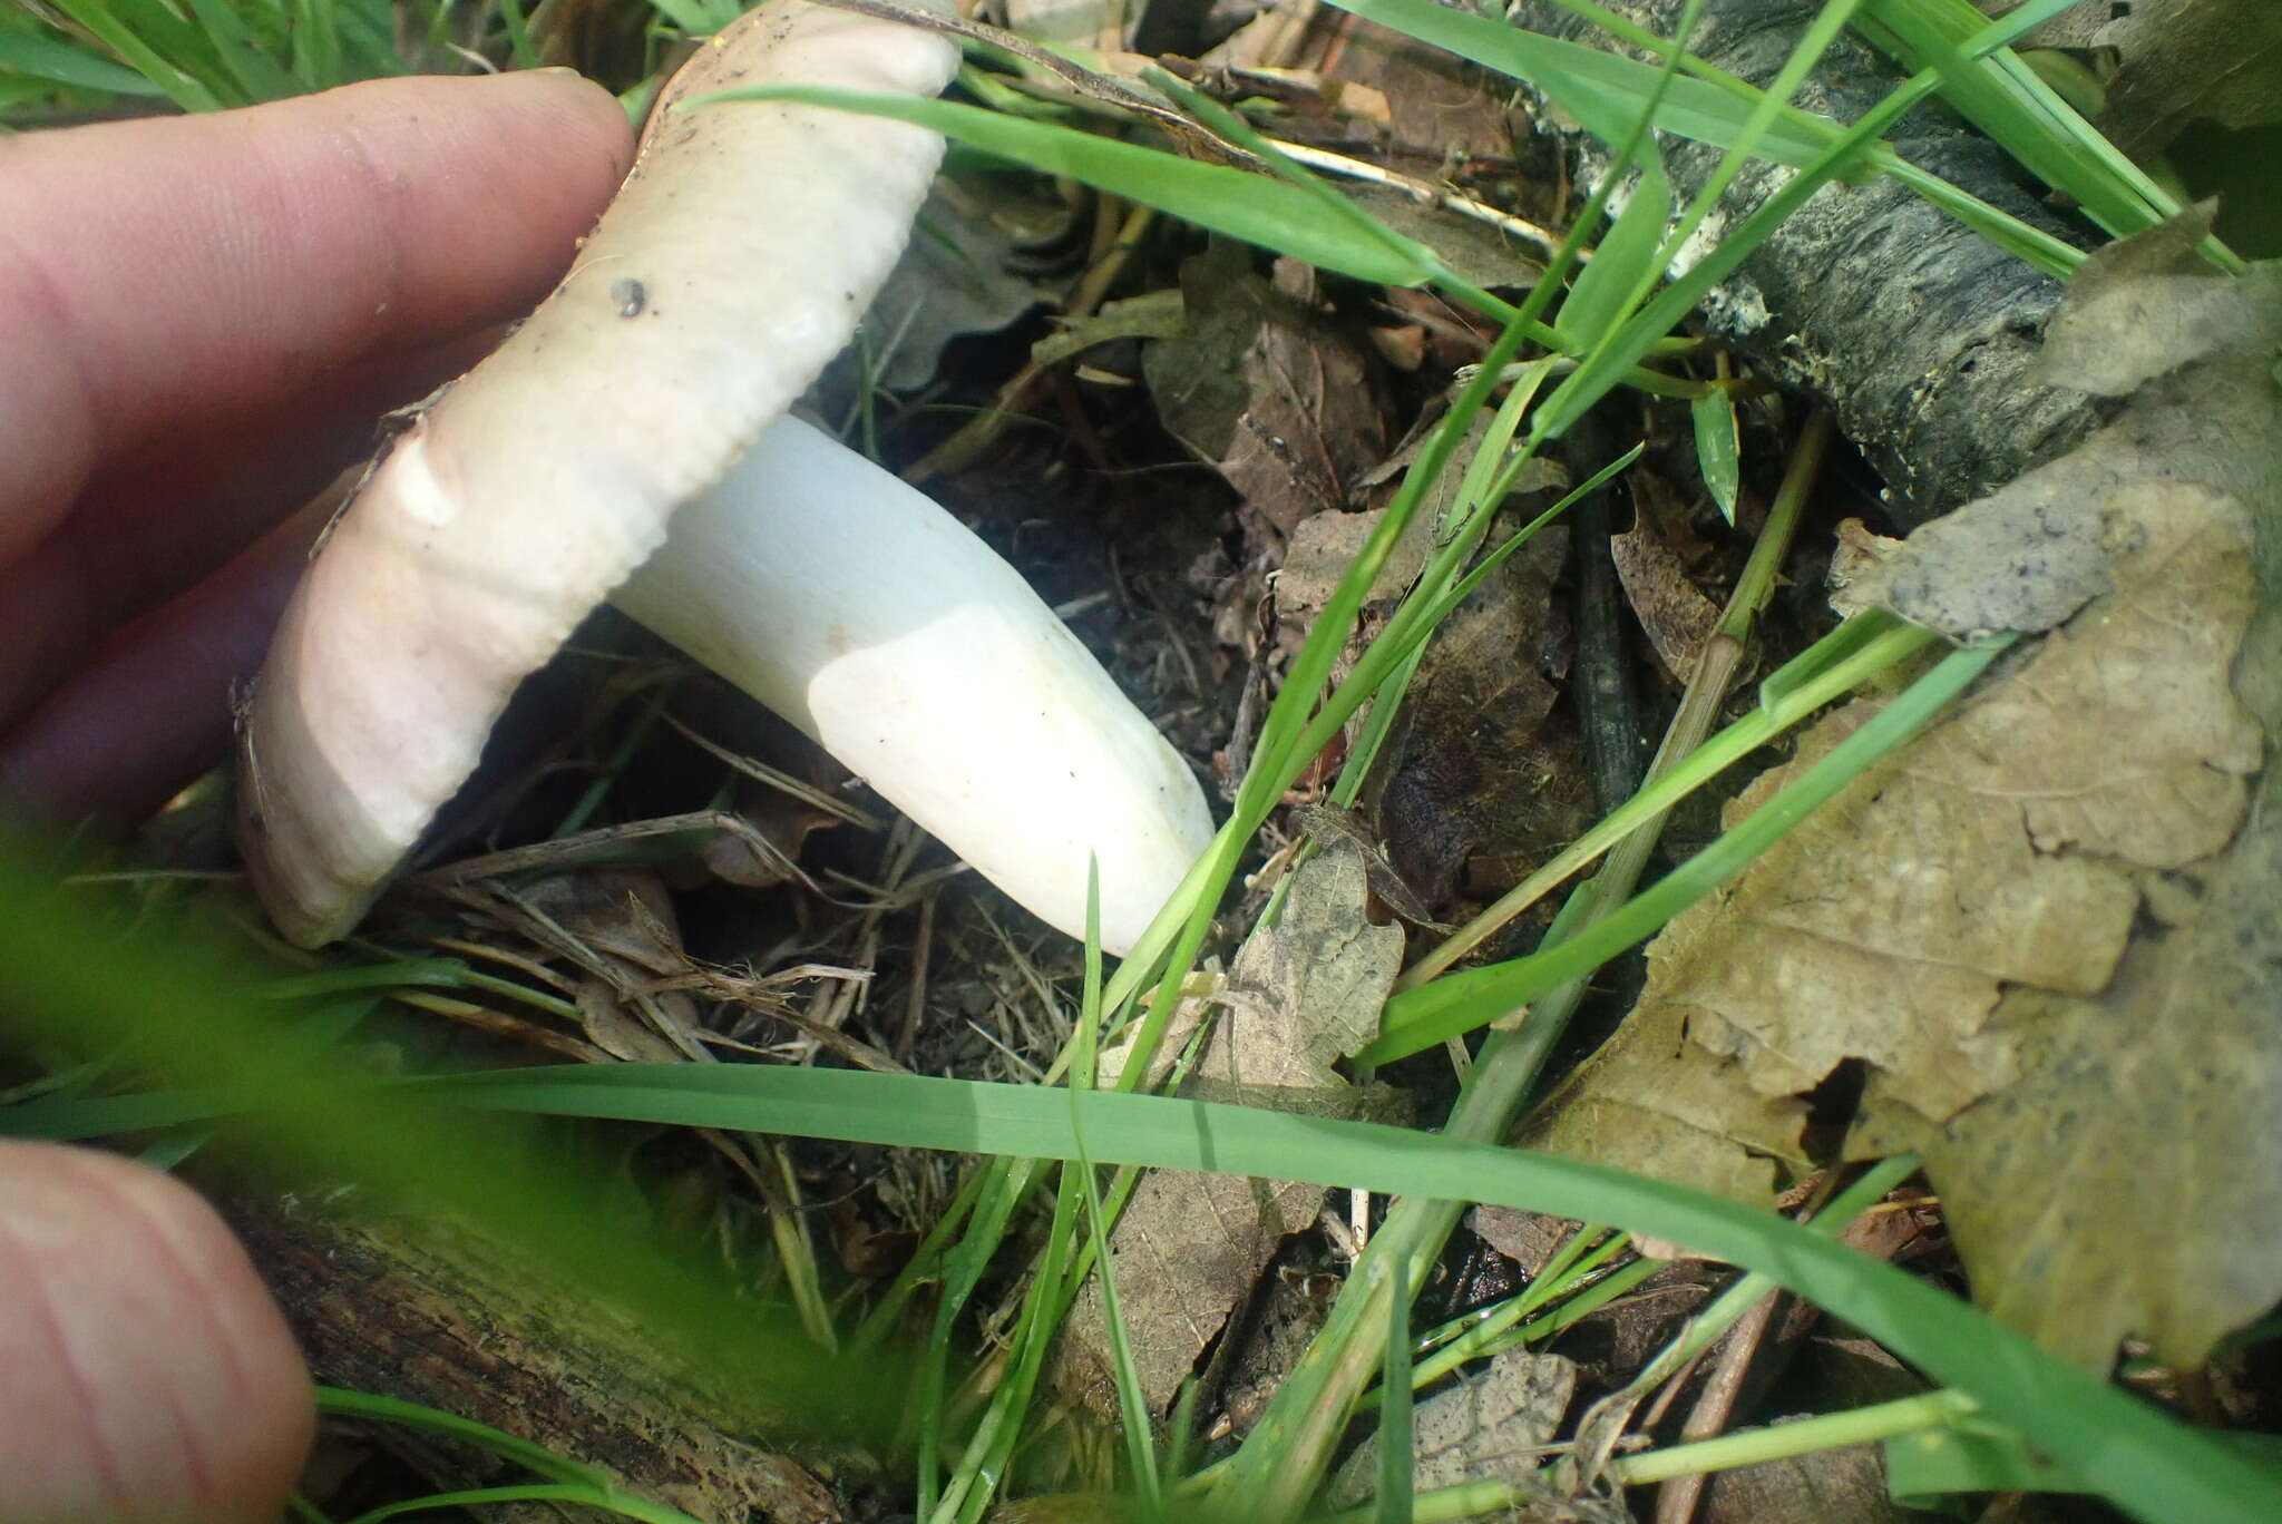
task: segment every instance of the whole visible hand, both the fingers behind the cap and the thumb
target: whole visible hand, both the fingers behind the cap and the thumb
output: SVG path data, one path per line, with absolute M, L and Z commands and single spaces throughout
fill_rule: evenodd
M 630 157 L 557 71 L 0 137 L 0 814 L 130 821 L 221 757 L 299 504 L 545 294 Z M 272 1524 L 308 1449 L 244 1253 L 107 1154 L 0 1143 L 0 1369 L 9 1519 Z

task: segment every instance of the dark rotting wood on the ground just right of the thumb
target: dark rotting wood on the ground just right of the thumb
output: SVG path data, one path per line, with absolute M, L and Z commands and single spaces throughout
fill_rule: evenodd
M 837 1524 L 831 1487 L 758 1440 L 751 1396 L 705 1387 L 632 1319 L 431 1218 L 226 1202 L 322 1385 L 399 1396 L 607 1467 L 705 1524 Z M 404 1428 L 388 1440 L 443 1485 L 532 1481 Z M 532 1519 L 559 1519 L 536 1506 Z M 525 1515 L 507 1515 L 525 1517 Z

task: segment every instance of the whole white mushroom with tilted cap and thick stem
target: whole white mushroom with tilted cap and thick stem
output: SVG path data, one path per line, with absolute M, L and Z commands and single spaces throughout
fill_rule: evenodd
M 240 844 L 290 940 L 363 917 L 516 684 L 614 591 L 1045 922 L 1082 935 L 1098 858 L 1102 945 L 1141 935 L 1212 835 L 1193 773 L 958 520 L 783 418 L 901 253 L 942 139 L 675 110 L 764 82 L 933 94 L 956 62 L 808 0 L 746 14 L 669 82 L 561 285 L 386 447 L 240 725 Z

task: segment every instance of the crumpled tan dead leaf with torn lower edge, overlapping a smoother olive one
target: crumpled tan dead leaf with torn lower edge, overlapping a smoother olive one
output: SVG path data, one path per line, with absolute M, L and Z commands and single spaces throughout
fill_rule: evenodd
M 1611 1127 L 1648 1113 L 1696 1132 L 1680 1159 L 1732 1189 L 1737 1170 L 1764 1180 L 1743 1150 L 1805 1164 L 1794 1097 L 1842 1061 L 1871 1065 L 1880 1104 L 1942 1125 L 2020 1077 L 2017 1036 L 1988 1031 L 2006 988 L 2109 986 L 2141 908 L 2129 869 L 2223 849 L 2259 762 L 2227 691 L 2250 614 L 2239 511 L 2156 486 L 2111 511 L 2141 543 L 2125 586 L 1677 917 L 1641 1008 L 1563 1088 L 1543 1143 L 1602 1157 Z M 1871 712 L 1816 725 L 1730 824 Z

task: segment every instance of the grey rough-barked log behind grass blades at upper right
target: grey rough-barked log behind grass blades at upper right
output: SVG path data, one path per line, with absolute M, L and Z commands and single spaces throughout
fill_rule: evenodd
M 1682 11 L 1682 0 L 1607 5 L 1664 37 Z M 1712 0 L 1691 52 L 1766 84 L 1816 9 L 1812 0 Z M 1613 46 L 1554 0 L 1527 0 L 1515 21 Z M 1844 37 L 1794 100 L 1855 121 L 1899 82 L 1889 59 Z M 1563 137 L 1579 180 L 1595 183 L 1607 148 L 1584 132 Z M 2022 189 L 2001 148 L 1940 107 L 1919 107 L 1887 141 L 1983 201 L 2088 242 L 2083 228 Z M 1686 198 L 1702 189 L 1721 151 L 1666 137 L 1664 160 L 1675 196 Z M 1748 164 L 1721 203 L 1723 224 L 1734 228 L 1789 176 L 1778 164 Z M 1862 187 L 1826 185 L 1714 290 L 1705 313 L 1714 335 L 1769 379 L 1830 402 L 1842 431 L 1885 477 L 1894 518 L 1915 527 L 2063 454 L 2097 422 L 2090 399 L 2024 376 L 2058 297 L 2056 281 L 1880 176 Z

